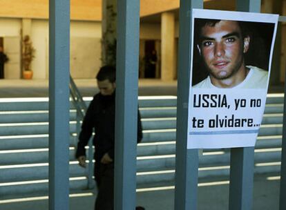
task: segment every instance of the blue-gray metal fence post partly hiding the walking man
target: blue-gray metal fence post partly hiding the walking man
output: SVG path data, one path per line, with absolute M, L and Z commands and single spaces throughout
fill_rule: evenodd
M 115 209 L 136 204 L 136 145 L 140 0 L 117 2 Z

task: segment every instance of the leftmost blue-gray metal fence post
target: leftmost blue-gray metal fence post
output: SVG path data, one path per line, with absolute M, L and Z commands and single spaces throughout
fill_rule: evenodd
M 70 1 L 49 1 L 49 209 L 68 210 Z

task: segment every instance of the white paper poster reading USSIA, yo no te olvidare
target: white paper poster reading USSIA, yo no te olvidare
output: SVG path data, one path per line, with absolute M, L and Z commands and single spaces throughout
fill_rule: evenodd
M 193 9 L 188 149 L 255 146 L 278 15 Z

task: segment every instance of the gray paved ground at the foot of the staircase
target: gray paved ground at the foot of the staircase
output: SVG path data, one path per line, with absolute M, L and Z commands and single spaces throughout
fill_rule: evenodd
M 276 210 L 279 202 L 279 180 L 267 180 L 274 175 L 256 175 L 254 178 L 254 210 Z M 225 181 L 227 178 L 220 180 Z M 202 179 L 198 187 L 198 210 L 224 210 L 228 207 L 229 184 L 215 184 L 214 180 Z M 70 198 L 70 210 L 93 209 L 95 195 Z M 45 210 L 48 200 L 26 202 L 4 201 L 0 199 L 1 210 Z M 174 190 L 146 191 L 137 193 L 137 204 L 146 210 L 173 210 Z M 59 209 L 60 210 L 60 209 Z

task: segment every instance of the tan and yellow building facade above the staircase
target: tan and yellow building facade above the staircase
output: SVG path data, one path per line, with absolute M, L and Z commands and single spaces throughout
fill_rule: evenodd
M 102 0 L 70 2 L 70 73 L 94 78 L 102 65 Z M 142 0 L 140 8 L 140 78 L 171 81 L 177 78 L 179 0 Z M 209 0 L 204 8 L 235 10 L 235 1 Z M 262 12 L 286 14 L 286 0 L 263 0 Z M 108 18 L 108 17 L 106 17 Z M 48 0 L 0 0 L 0 46 L 10 61 L 7 79 L 22 78 L 23 37 L 35 48 L 34 79 L 48 79 Z M 272 83 L 285 81 L 286 24 L 280 23 Z

